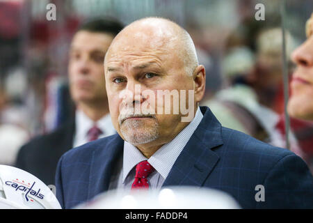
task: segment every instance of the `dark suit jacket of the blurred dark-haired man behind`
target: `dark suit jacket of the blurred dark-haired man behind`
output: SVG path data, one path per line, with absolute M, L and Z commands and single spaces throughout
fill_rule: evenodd
M 19 150 L 15 166 L 38 177 L 46 185 L 54 185 L 58 160 L 72 148 L 74 128 L 73 119 L 54 132 L 35 137 Z

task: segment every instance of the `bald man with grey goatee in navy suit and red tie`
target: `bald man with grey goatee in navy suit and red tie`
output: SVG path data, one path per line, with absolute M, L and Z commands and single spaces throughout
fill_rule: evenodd
M 63 208 L 107 190 L 172 185 L 223 190 L 242 208 L 313 208 L 313 178 L 300 157 L 223 128 L 198 107 L 205 70 L 182 27 L 153 17 L 129 24 L 109 47 L 104 72 L 118 134 L 61 157 Z

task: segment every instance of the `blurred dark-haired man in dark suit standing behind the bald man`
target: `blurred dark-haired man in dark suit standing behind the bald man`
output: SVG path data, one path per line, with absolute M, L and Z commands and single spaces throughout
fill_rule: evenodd
M 54 185 L 56 164 L 75 146 L 115 133 L 104 86 L 103 60 L 113 38 L 123 28 L 114 20 L 92 20 L 75 33 L 68 74 L 75 117 L 46 135 L 22 146 L 16 167 L 29 171 L 47 185 Z

